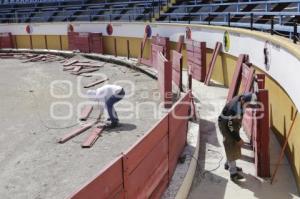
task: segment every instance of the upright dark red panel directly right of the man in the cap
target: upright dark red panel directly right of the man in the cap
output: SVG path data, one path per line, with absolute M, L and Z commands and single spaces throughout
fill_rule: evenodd
M 269 124 L 269 93 L 259 90 L 257 99 L 261 103 L 257 111 L 255 146 L 257 153 L 257 175 L 270 177 L 270 124 Z

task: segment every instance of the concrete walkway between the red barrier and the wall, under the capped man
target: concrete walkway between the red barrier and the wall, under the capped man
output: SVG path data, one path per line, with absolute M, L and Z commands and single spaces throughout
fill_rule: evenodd
M 287 159 L 282 161 L 276 180 L 271 185 L 269 179 L 261 179 L 256 176 L 254 154 L 247 144 L 242 149 L 242 160 L 237 161 L 238 166 L 243 168 L 246 181 L 239 184 L 232 182 L 229 172 L 224 170 L 225 151 L 222 135 L 216 123 L 218 115 L 225 105 L 228 89 L 216 86 L 208 87 L 193 81 L 193 92 L 200 100 L 197 103 L 198 106 L 200 105 L 198 111 L 201 118 L 200 152 L 189 199 L 299 198 L 295 179 Z M 249 143 L 244 132 L 241 132 L 241 136 L 245 142 Z M 281 148 L 273 133 L 270 137 L 271 172 L 273 172 Z

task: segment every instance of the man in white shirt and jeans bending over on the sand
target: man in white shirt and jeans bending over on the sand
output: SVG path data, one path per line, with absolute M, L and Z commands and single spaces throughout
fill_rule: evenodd
M 104 104 L 110 120 L 110 125 L 107 127 L 114 128 L 119 124 L 117 112 L 114 104 L 119 102 L 125 96 L 125 91 L 121 86 L 107 84 L 96 90 L 87 91 L 88 98 Z

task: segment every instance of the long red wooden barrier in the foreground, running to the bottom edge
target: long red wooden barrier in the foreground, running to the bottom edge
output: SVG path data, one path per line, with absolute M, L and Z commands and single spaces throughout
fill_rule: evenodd
M 190 105 L 189 92 L 122 157 L 69 198 L 159 199 L 186 144 Z

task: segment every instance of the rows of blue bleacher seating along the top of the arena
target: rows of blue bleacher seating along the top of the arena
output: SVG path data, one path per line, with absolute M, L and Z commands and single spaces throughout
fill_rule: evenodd
M 289 34 L 300 0 L 0 0 L 0 23 L 160 21 L 230 25 Z

